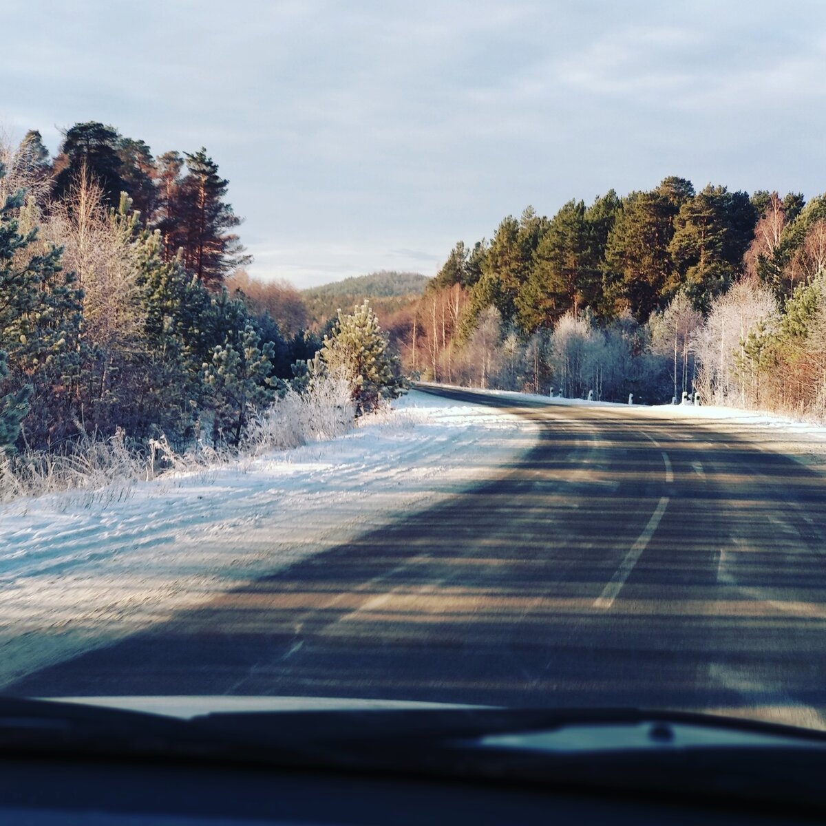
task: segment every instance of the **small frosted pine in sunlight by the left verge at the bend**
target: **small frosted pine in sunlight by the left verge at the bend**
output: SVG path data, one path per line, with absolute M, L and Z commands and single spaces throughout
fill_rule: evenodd
M 406 392 L 398 358 L 389 352 L 368 301 L 355 307 L 352 315 L 339 310 L 332 333 L 324 337 L 315 368 L 341 373 L 348 379 L 357 415 L 374 411 L 385 399 Z

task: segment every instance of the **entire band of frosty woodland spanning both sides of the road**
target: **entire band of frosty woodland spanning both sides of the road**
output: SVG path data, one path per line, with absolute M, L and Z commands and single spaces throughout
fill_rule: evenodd
M 171 455 L 257 427 L 281 444 L 286 420 L 262 411 L 287 396 L 324 398 L 335 430 L 403 373 L 824 415 L 824 196 L 669 177 L 507 216 L 429 281 L 299 292 L 246 273 L 228 187 L 204 148 L 155 156 L 97 122 L 54 158 L 37 131 L 0 145 L 0 475 L 100 439 Z M 354 307 L 366 292 L 378 316 Z

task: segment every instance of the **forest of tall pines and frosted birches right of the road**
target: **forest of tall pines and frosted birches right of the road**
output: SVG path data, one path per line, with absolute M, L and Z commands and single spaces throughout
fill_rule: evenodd
M 387 327 L 431 380 L 822 417 L 826 197 L 685 178 L 450 251 Z

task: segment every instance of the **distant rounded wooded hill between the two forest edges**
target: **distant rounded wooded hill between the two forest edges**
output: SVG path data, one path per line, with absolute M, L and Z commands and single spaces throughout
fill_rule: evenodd
M 301 300 L 311 323 L 322 326 L 335 318 L 339 308 L 352 311 L 365 298 L 379 316 L 396 311 L 420 297 L 429 281 L 430 278 L 421 273 L 382 270 L 301 290 Z

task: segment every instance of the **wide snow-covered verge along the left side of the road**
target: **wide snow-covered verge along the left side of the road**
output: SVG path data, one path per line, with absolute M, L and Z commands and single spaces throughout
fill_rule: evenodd
M 411 391 L 348 434 L 122 491 L 0 506 L 0 689 L 431 506 L 538 426 Z

